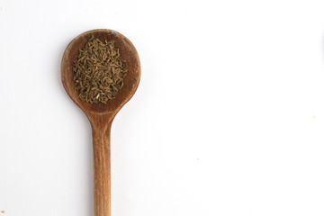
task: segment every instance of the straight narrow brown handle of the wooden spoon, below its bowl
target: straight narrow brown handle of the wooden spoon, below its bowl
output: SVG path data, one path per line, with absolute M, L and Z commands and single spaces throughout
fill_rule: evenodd
M 105 127 L 103 127 L 105 125 Z M 111 148 L 112 122 L 92 124 L 94 152 L 94 216 L 111 216 Z

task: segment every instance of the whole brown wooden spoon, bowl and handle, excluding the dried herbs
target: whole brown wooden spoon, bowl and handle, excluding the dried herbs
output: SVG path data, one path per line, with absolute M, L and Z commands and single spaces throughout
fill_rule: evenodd
M 116 97 L 107 103 L 86 103 L 77 97 L 73 80 L 73 63 L 79 49 L 83 49 L 90 38 L 114 40 L 126 61 L 127 75 L 124 85 Z M 67 94 L 86 114 L 92 127 L 94 151 L 94 216 L 111 216 L 111 161 L 110 130 L 112 120 L 121 107 L 127 103 L 139 85 L 139 55 L 130 40 L 112 30 L 86 31 L 72 40 L 64 52 L 61 63 L 62 83 Z

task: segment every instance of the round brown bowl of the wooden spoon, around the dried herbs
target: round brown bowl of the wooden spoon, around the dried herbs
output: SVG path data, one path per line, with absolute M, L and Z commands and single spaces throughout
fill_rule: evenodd
M 127 74 L 123 79 L 124 85 L 118 92 L 113 100 L 108 100 L 107 103 L 86 103 L 81 101 L 77 97 L 77 92 L 75 90 L 75 84 L 73 80 L 73 64 L 79 49 L 83 49 L 85 44 L 91 38 L 99 40 L 113 40 L 115 42 L 115 47 L 119 49 L 121 58 L 126 61 Z M 62 64 L 61 64 L 61 78 L 62 83 L 67 90 L 67 94 L 71 99 L 78 105 L 86 115 L 91 113 L 103 114 L 103 113 L 114 113 L 116 114 L 121 107 L 127 103 L 131 96 L 135 93 L 139 85 L 140 77 L 140 65 L 139 65 L 139 55 L 132 45 L 130 40 L 117 31 L 100 29 L 93 31 L 86 31 L 74 40 L 72 40 L 67 49 L 64 52 Z

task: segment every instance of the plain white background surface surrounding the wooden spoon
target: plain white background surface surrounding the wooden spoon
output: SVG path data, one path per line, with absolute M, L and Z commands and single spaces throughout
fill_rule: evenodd
M 60 83 L 98 28 L 142 75 L 112 124 L 112 216 L 324 215 L 323 1 L 0 1 L 0 216 L 92 216 L 91 129 Z

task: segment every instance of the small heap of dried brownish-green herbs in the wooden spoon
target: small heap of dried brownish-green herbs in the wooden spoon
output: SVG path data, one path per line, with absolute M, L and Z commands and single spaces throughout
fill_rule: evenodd
M 114 41 L 102 42 L 93 36 L 79 50 L 73 71 L 77 96 L 88 103 L 112 100 L 121 90 L 127 72 Z

